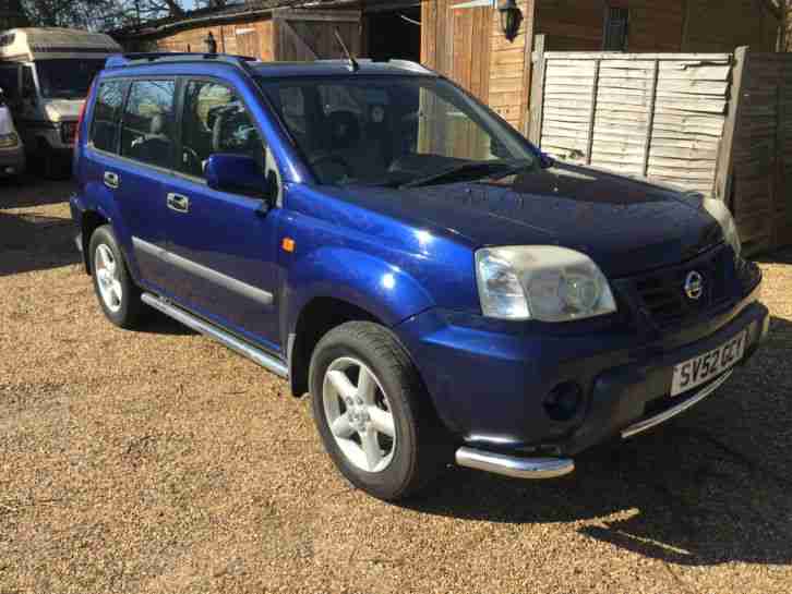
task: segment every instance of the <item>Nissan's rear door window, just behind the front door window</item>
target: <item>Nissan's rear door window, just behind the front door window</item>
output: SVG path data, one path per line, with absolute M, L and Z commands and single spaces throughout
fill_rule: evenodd
M 134 81 L 121 126 L 121 155 L 171 167 L 173 155 L 173 81 Z

